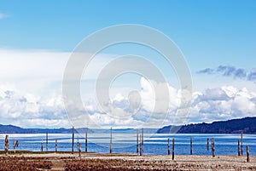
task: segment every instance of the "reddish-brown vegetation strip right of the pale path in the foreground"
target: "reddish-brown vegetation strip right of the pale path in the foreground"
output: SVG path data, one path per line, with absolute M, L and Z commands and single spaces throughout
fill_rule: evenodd
M 124 159 L 86 159 L 69 160 L 65 162 L 65 171 L 131 171 L 131 170 L 256 170 L 256 167 L 237 167 L 230 164 L 207 164 L 171 162 L 170 160 L 148 161 L 148 160 L 124 160 Z

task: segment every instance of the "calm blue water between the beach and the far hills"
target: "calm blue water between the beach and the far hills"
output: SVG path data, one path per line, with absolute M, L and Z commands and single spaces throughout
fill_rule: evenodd
M 172 151 L 172 138 L 175 138 L 175 153 L 177 155 L 190 154 L 190 137 L 193 137 L 193 154 L 212 155 L 211 138 L 215 138 L 216 155 L 237 155 L 237 140 L 240 134 L 144 134 L 144 152 L 148 155 L 166 155 L 167 139 L 170 138 Z M 151 136 L 151 137 L 150 137 Z M 84 151 L 84 137 L 79 135 L 79 142 Z M 4 150 L 5 134 L 0 134 L 0 149 Z M 209 138 L 210 150 L 207 151 L 207 138 Z M 17 150 L 40 151 L 41 140 L 45 134 L 9 134 L 9 146 L 12 149 L 13 140 L 19 140 Z M 58 140 L 58 151 L 71 151 L 72 134 L 49 134 L 49 149 L 55 151 L 55 140 Z M 113 134 L 113 152 L 136 153 L 136 134 Z M 243 154 L 246 154 L 246 146 L 250 146 L 250 155 L 256 156 L 256 134 L 243 134 Z M 109 134 L 88 134 L 88 151 L 109 152 Z M 77 150 L 77 135 L 74 151 Z

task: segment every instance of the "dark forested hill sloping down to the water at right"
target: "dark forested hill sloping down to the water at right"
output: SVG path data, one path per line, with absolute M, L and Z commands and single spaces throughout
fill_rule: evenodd
M 168 134 L 177 126 L 166 126 L 158 129 L 158 134 Z M 183 125 L 178 129 L 177 134 L 256 134 L 256 117 L 245 117 L 232 119 L 229 121 L 219 121 L 213 123 L 197 123 Z

